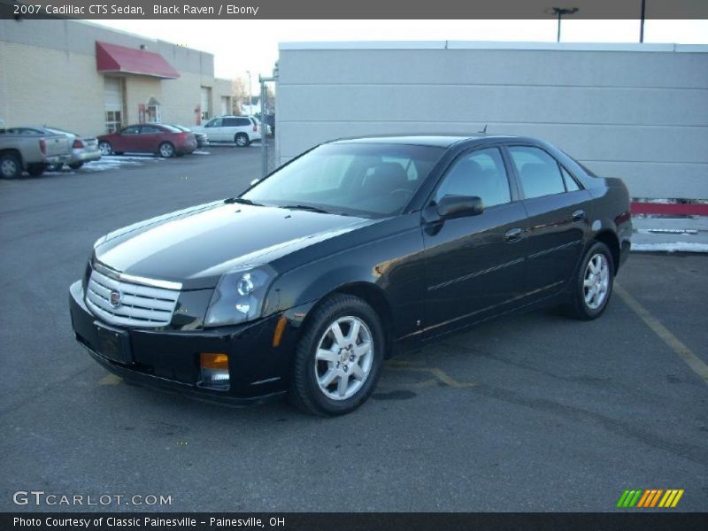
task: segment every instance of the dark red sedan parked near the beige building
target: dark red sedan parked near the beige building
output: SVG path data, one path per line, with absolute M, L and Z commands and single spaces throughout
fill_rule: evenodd
M 196 150 L 194 133 L 162 124 L 138 124 L 123 127 L 116 133 L 98 137 L 98 149 L 102 155 L 123 153 L 157 153 L 170 158 Z

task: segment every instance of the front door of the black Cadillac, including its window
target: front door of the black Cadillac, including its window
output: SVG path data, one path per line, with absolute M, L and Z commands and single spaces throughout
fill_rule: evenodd
M 527 216 L 512 190 L 497 147 L 464 153 L 444 175 L 433 195 L 435 203 L 446 195 L 479 196 L 484 212 L 424 220 L 424 337 L 504 312 L 522 298 Z

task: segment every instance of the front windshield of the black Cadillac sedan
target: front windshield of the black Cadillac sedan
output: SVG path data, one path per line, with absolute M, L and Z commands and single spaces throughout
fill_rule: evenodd
M 321 145 L 242 195 L 257 204 L 388 216 L 411 200 L 443 148 L 385 143 Z

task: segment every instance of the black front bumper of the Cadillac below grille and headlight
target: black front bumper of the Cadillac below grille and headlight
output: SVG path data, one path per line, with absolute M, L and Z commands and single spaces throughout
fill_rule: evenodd
M 69 293 L 76 340 L 99 364 L 127 381 L 235 405 L 266 401 L 288 389 L 291 357 L 306 308 L 243 325 L 202 330 L 113 327 L 89 311 L 81 281 L 74 282 Z M 286 326 L 275 345 L 279 319 L 286 319 Z M 121 361 L 106 356 L 102 336 L 106 330 L 127 344 L 127 356 Z M 202 385 L 200 353 L 227 354 L 229 389 Z

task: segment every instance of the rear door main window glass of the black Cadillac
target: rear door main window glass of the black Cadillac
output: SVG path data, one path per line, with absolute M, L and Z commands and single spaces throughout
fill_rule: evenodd
M 527 199 L 566 191 L 558 162 L 544 150 L 531 146 L 511 146 L 509 151 Z

